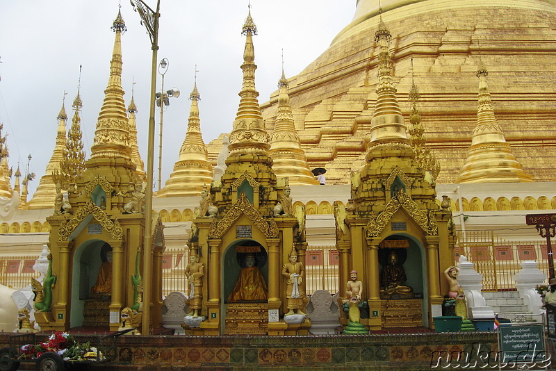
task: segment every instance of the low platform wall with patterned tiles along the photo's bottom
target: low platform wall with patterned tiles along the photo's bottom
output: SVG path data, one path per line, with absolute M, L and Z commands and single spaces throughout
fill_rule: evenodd
M 7 334 L 0 343 L 8 343 Z M 434 352 L 470 351 L 477 343 L 496 350 L 496 334 L 122 336 L 117 362 L 88 370 L 431 370 Z

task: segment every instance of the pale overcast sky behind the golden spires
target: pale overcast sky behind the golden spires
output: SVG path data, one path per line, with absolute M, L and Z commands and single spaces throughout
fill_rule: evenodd
M 156 6 L 155 0 L 146 0 Z M 350 23 L 355 0 L 252 0 L 252 17 L 259 35 L 254 38 L 256 88 L 263 103 L 277 89 L 284 49 L 286 76 L 295 76 L 315 60 L 334 36 Z M 86 156 L 90 156 L 95 124 L 108 83 L 114 42 L 111 25 L 118 0 L 3 1 L 0 13 L 0 123 L 8 134 L 9 163 L 21 170 L 31 154 L 31 172 L 37 179 L 51 157 L 58 125 L 56 116 L 67 92 L 65 108 L 71 124 L 72 101 L 77 92 L 79 65 L 83 110 L 81 129 Z M 201 94 L 199 110 L 204 142 L 231 131 L 239 103 L 243 46 L 241 26 L 248 0 L 162 0 L 158 60 L 170 61 L 165 90 L 177 87 L 164 113 L 163 185 L 178 158 L 189 115 L 189 93 L 195 65 Z M 126 105 L 132 79 L 138 106 L 138 140 L 147 158 L 151 46 L 140 17 L 129 0 L 122 0 L 127 32 L 122 36 L 122 85 Z M 161 88 L 158 76 L 157 90 Z M 155 174 L 158 167 L 156 113 Z M 13 181 L 12 181 L 13 184 Z M 29 199 L 30 199 L 29 197 Z

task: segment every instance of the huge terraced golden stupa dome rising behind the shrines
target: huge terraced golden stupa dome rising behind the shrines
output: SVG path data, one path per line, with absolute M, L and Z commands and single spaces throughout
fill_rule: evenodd
M 295 126 L 310 167 L 328 183 L 349 183 L 363 163 L 377 94 L 382 17 L 392 35 L 393 83 L 409 124 L 412 81 L 420 91 L 427 144 L 441 163 L 436 179 L 455 183 L 477 122 L 477 78 L 489 70 L 493 111 L 505 140 L 533 181 L 553 181 L 556 159 L 556 2 L 541 0 L 359 0 L 330 47 L 288 79 Z M 412 67 L 413 65 L 413 67 Z M 267 130 L 278 92 L 261 106 Z

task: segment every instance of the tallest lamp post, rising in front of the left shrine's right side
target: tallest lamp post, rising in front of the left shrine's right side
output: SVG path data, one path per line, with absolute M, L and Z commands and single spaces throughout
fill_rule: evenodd
M 152 10 L 143 0 L 130 0 L 133 10 L 139 13 L 141 24 L 147 28 L 152 45 L 151 101 L 149 110 L 149 138 L 147 143 L 147 189 L 145 190 L 145 240 L 143 241 L 143 315 L 141 333 L 149 335 L 152 304 L 152 186 L 154 159 L 154 100 L 156 95 L 156 60 L 158 59 L 158 18 L 161 0 L 156 0 Z M 145 303 L 146 301 L 146 303 Z

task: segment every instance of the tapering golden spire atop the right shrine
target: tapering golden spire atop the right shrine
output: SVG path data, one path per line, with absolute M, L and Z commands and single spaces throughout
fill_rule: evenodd
M 409 147 L 407 128 L 395 95 L 396 89 L 392 76 L 393 63 L 389 51 L 390 38 L 390 32 L 380 17 L 375 33 L 375 42 L 379 45 L 378 85 L 375 90 L 377 103 L 370 126 L 370 148 L 383 143 L 396 143 L 401 147 Z M 373 157 L 369 155 L 367 157 Z

